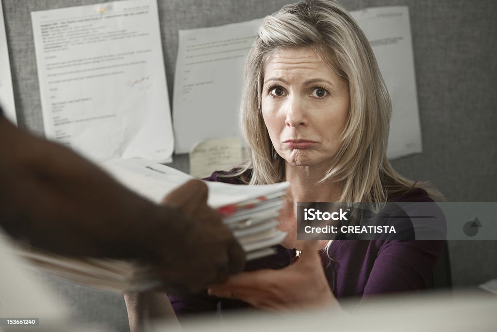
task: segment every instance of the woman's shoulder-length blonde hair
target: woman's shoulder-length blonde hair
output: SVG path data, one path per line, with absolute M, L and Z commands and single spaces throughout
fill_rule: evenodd
M 340 202 L 387 202 L 423 188 L 434 199 L 441 194 L 427 183 L 399 175 L 386 157 L 390 96 L 366 36 L 350 14 L 334 1 L 303 0 L 266 16 L 248 54 L 241 122 L 248 161 L 234 175 L 251 169 L 249 184 L 281 182 L 284 161 L 274 156 L 261 112 L 264 69 L 276 49 L 311 48 L 348 84 L 350 110 L 340 149 L 322 181 L 340 182 Z

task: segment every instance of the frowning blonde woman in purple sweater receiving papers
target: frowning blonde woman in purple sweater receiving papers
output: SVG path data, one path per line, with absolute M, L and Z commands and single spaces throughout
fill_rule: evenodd
M 442 241 L 296 236 L 297 202 L 433 202 L 439 193 L 386 158 L 391 102 L 371 47 L 339 4 L 304 0 L 267 16 L 248 55 L 242 126 L 249 159 L 211 181 L 290 182 L 275 256 L 203 294 L 170 295 L 176 315 L 253 306 L 285 311 L 427 287 Z M 302 252 L 300 258 L 296 258 Z

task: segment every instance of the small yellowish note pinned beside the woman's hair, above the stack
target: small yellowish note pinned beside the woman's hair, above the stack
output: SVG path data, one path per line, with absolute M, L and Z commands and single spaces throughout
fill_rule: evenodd
M 215 170 L 229 170 L 242 162 L 240 137 L 200 142 L 190 152 L 190 174 L 205 178 Z

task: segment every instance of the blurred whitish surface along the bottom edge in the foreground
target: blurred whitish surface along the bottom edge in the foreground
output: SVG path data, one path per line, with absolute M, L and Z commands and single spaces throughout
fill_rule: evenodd
M 494 332 L 495 296 L 479 292 L 404 293 L 375 296 L 367 308 L 359 299 L 340 301 L 339 308 L 300 309 L 271 314 L 237 310 L 222 318 L 215 312 L 190 315 L 154 325 L 154 332 Z M 356 309 L 357 308 L 357 309 Z M 251 308 L 250 308 L 251 309 Z M 344 311 L 342 311 L 343 309 Z

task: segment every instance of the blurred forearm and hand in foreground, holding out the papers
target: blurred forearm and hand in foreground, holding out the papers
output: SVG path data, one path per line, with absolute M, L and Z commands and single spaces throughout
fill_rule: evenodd
M 152 263 L 176 292 L 198 291 L 243 267 L 245 252 L 207 206 L 207 186 L 198 180 L 160 206 L 73 151 L 0 118 L 0 184 L 1 226 L 33 246 Z

